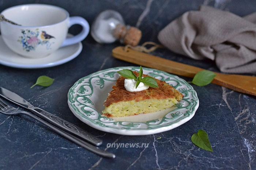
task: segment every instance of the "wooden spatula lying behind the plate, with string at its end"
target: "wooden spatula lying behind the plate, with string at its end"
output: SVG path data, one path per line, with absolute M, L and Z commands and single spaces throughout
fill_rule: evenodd
M 193 78 L 195 74 L 204 69 L 190 66 L 171 60 L 163 59 L 157 56 L 138 52 L 132 49 L 124 51 L 124 47 L 116 47 L 112 51 L 114 58 L 124 60 L 133 64 L 141 66 L 156 68 L 158 70 L 166 71 L 172 74 Z M 221 74 L 215 72 L 217 75 L 212 83 L 218 84 L 231 90 L 250 94 L 256 96 L 256 77 L 244 76 L 236 74 Z

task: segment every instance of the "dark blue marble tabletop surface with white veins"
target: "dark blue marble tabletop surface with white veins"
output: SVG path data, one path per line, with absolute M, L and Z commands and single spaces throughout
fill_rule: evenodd
M 0 0 L 0 11 L 24 3 L 45 3 L 63 7 L 71 16 L 83 16 L 91 24 L 104 9 L 115 9 L 127 24 L 143 32 L 142 42 L 157 41 L 167 23 L 202 4 L 244 16 L 256 11 L 255 0 Z M 70 29 L 79 32 L 80 27 Z M 68 89 L 79 78 L 95 71 L 132 64 L 116 60 L 111 50 L 119 44 L 101 45 L 91 36 L 82 53 L 69 63 L 53 68 L 22 70 L 0 66 L 0 86 L 8 88 L 35 106 L 60 116 L 107 143 L 149 143 L 148 148 L 109 148 L 116 159 L 101 158 L 60 137 L 27 116 L 0 115 L 0 169 L 256 169 L 256 99 L 220 86 L 194 86 L 200 100 L 195 116 L 176 129 L 147 136 L 124 136 L 95 130 L 80 122 L 67 105 Z M 218 71 L 210 60 L 195 61 L 159 50 L 155 55 Z M 38 76 L 55 79 L 48 88 L 30 86 Z M 191 81 L 191 79 L 184 78 Z M 209 134 L 213 153 L 194 146 L 191 135 L 203 129 Z M 161 139 L 159 139 L 161 137 Z

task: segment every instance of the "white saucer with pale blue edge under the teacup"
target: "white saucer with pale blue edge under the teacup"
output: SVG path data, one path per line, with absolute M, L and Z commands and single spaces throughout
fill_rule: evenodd
M 68 34 L 69 36 L 73 36 Z M 47 68 L 58 66 L 76 58 L 82 51 L 82 43 L 60 48 L 45 58 L 31 59 L 20 56 L 8 48 L 0 35 L 0 64 L 15 68 Z

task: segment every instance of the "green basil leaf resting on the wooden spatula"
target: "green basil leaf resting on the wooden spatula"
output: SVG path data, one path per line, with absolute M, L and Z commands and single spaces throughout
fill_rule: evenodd
M 203 70 L 198 72 L 194 76 L 192 83 L 197 86 L 206 86 L 207 84 L 210 84 L 212 82 L 215 76 L 216 74 L 214 72 Z

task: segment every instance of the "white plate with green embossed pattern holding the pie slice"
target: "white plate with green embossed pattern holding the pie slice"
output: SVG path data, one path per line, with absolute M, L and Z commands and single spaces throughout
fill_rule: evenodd
M 143 74 L 169 83 L 184 98 L 170 110 L 140 114 L 125 118 L 108 118 L 101 115 L 103 103 L 119 78 L 117 71 L 139 67 L 115 67 L 98 71 L 79 79 L 68 92 L 68 105 L 74 115 L 95 129 L 122 135 L 149 135 L 174 129 L 190 120 L 199 106 L 196 91 L 185 80 L 163 71 L 143 68 Z

